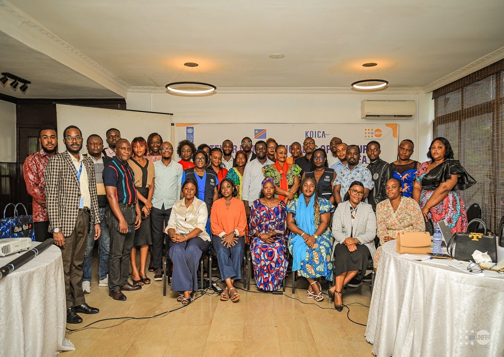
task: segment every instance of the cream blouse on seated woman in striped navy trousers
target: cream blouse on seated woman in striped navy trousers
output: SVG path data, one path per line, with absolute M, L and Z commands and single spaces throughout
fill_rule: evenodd
M 185 198 L 182 198 L 173 205 L 170 219 L 164 231 L 168 234 L 168 229 L 173 228 L 177 234 L 187 234 L 193 229 L 199 228 L 202 232 L 198 236 L 202 240 L 210 242 L 210 235 L 205 229 L 207 219 L 207 204 L 204 201 L 195 197 L 193 203 L 189 207 L 185 207 Z

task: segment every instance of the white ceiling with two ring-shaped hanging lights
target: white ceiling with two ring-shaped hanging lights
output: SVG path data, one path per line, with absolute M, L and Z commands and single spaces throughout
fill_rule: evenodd
M 504 58 L 503 14 L 502 0 L 0 0 L 0 70 L 32 81 L 0 93 L 125 97 L 184 62 L 218 92 L 349 88 L 365 62 L 386 91 L 425 92 Z

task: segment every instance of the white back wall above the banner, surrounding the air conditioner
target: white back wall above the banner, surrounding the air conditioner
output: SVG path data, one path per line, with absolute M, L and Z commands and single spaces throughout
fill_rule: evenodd
M 215 94 L 182 97 L 167 93 L 128 93 L 128 109 L 173 113 L 173 123 L 399 123 L 399 139 L 417 146 L 413 159 L 425 159 L 433 103 L 430 94 Z M 412 120 L 362 120 L 362 100 L 415 100 Z M 432 109 L 430 108 L 432 106 Z M 334 133 L 343 141 L 344 133 Z M 302 141 L 304 138 L 292 138 Z M 427 142 L 427 144 L 425 144 Z M 175 143 L 174 143 L 175 144 Z M 176 145 L 176 144 L 175 144 Z M 420 154 L 420 155 L 418 155 Z

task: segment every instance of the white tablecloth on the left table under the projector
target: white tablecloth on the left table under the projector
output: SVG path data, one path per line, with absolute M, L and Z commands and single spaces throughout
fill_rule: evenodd
M 0 266 L 17 257 L 0 258 Z M 0 355 L 52 356 L 75 349 L 65 338 L 66 310 L 61 251 L 51 246 L 0 279 Z

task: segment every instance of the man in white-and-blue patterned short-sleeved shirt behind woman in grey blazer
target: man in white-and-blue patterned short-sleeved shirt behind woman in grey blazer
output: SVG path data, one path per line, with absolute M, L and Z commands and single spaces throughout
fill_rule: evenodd
M 367 196 L 373 189 L 374 183 L 371 172 L 360 163 L 360 149 L 357 145 L 348 146 L 346 159 L 347 164 L 336 174 L 336 180 L 334 180 L 334 200 L 337 204 L 343 202 L 343 197 L 352 182 L 360 181 L 364 185 L 363 201 L 367 202 Z

